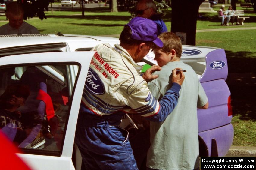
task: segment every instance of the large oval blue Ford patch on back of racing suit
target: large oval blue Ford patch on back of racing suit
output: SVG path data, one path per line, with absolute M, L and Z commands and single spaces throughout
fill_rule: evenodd
M 103 86 L 103 83 L 101 82 L 101 79 L 91 68 L 89 68 L 88 70 L 85 86 L 94 94 L 105 93 L 104 86 Z

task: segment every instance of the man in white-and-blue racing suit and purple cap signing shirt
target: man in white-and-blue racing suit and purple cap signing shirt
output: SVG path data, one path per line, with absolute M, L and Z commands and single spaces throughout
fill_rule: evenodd
M 177 104 L 184 74 L 173 71 L 173 86 L 158 102 L 148 90 L 147 82 L 154 66 L 143 76 L 136 62 L 155 46 L 155 22 L 133 18 L 124 26 L 120 45 L 99 44 L 93 48 L 78 116 L 75 142 L 83 157 L 81 169 L 137 170 L 128 132 L 118 125 L 125 113 L 137 113 L 151 121 L 164 121 Z M 180 69 L 180 68 L 177 68 Z M 146 80 L 144 80 L 144 79 Z M 125 113 L 124 113 L 125 112 Z

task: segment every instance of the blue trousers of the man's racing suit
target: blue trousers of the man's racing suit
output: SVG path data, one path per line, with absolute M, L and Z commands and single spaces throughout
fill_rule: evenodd
M 128 132 L 118 126 L 121 117 L 79 113 L 75 142 L 82 154 L 82 170 L 138 170 Z

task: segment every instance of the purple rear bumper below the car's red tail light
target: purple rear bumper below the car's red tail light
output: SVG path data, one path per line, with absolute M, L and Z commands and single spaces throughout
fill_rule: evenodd
M 222 157 L 227 154 L 230 146 L 232 145 L 234 129 L 232 124 L 227 124 L 222 127 L 207 130 L 204 132 L 199 132 L 198 135 L 201 137 L 206 147 L 199 149 L 206 149 L 208 151 L 207 156 L 211 156 L 212 153 L 217 153 L 217 156 Z M 213 144 L 214 142 L 212 142 L 214 140 L 216 141 L 216 145 Z

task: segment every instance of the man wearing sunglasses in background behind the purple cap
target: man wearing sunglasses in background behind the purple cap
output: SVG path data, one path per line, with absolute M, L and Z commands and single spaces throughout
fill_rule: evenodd
M 151 19 L 157 24 L 157 35 L 167 32 L 167 27 L 160 15 L 156 14 L 157 7 L 152 0 L 140 0 L 136 5 L 136 15 Z

